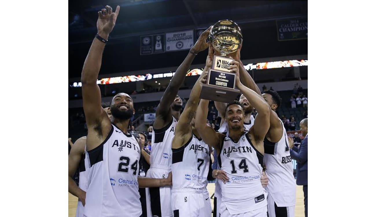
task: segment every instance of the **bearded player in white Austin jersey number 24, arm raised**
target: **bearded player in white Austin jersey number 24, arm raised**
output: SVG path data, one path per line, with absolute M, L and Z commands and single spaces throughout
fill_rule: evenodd
M 126 93 L 116 94 L 110 104 L 112 122 L 101 106 L 97 79 L 102 53 L 109 33 L 115 26 L 120 6 L 112 12 L 106 6 L 98 12 L 98 33 L 94 38 L 82 69 L 82 100 L 88 135 L 86 151 L 89 157 L 88 188 L 83 216 L 141 215 L 138 187 L 171 185 L 168 179 L 148 179 L 138 176 L 140 148 L 134 136 L 127 132 L 132 117 L 133 100 Z

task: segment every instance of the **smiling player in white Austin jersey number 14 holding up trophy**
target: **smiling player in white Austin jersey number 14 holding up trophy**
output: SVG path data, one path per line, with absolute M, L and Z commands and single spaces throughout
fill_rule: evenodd
M 231 61 L 229 69 L 236 73 L 236 86 L 253 105 L 258 114 L 251 129 L 244 131 L 244 108 L 239 102 L 230 103 L 226 108 L 225 121 L 229 126 L 228 135 L 215 132 L 205 123 L 208 114 L 208 100 L 202 100 L 197 109 L 195 126 L 203 141 L 213 146 L 218 154 L 220 170 L 229 179 L 221 185 L 222 217 L 267 216 L 267 193 L 261 185 L 264 137 L 269 129 L 270 108 L 255 91 L 240 82 L 238 62 Z

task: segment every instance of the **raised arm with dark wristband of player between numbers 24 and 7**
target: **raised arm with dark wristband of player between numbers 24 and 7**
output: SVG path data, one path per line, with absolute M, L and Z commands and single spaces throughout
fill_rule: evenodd
M 206 43 L 206 38 L 208 38 L 210 28 L 211 27 L 206 29 L 205 32 L 200 35 L 196 44 L 194 44 L 194 46 L 191 48 L 182 64 L 177 68 L 171 82 L 168 84 L 155 113 L 156 117 L 153 124 L 154 129 L 162 129 L 171 122 L 171 103 L 173 103 L 180 86 L 184 82 L 188 68 L 190 67 L 197 53 L 208 48 L 209 43 Z

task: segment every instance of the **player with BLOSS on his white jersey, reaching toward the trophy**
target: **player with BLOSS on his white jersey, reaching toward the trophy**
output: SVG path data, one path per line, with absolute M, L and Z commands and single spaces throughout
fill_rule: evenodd
M 235 57 L 237 59 L 237 57 Z M 241 64 L 243 66 L 243 64 Z M 242 67 L 241 67 L 242 68 Z M 243 68 L 244 69 L 244 68 Z M 264 139 L 264 166 L 269 179 L 265 190 L 268 192 L 269 217 L 294 216 L 296 203 L 296 184 L 293 175 L 288 137 L 282 120 L 278 118 L 276 110 L 281 105 L 281 98 L 272 90 L 261 91 L 252 77 L 243 70 L 240 73 L 242 81 L 246 82 L 250 89 L 264 98 L 271 108 L 270 128 Z

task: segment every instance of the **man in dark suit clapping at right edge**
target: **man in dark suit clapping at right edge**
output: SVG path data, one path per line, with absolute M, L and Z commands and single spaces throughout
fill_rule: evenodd
M 290 146 L 290 155 L 297 161 L 296 165 L 296 184 L 303 185 L 304 193 L 304 213 L 308 217 L 308 118 L 300 121 L 300 131 L 305 137 L 299 148 L 294 146 L 294 140 L 288 138 Z

